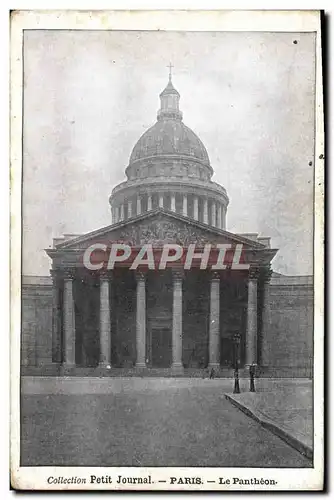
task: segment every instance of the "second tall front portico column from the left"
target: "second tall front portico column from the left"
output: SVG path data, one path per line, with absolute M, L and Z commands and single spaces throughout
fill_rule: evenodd
M 100 366 L 110 366 L 110 303 L 109 277 L 100 275 Z

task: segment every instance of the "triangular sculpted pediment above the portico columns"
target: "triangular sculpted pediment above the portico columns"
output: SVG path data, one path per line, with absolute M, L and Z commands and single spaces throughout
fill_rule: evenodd
M 262 250 L 265 248 L 263 244 L 251 239 L 158 208 L 60 243 L 56 249 L 82 249 L 87 248 L 90 244 L 100 242 L 104 244 L 119 242 L 135 247 L 145 243 L 151 243 L 155 247 L 161 247 L 165 243 L 183 246 L 188 246 L 191 243 L 195 243 L 197 246 L 203 246 L 206 243 L 213 245 L 242 243 L 249 249 Z

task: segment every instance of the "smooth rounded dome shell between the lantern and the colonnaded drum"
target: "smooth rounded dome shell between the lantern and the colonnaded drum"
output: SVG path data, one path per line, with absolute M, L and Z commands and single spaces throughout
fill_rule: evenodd
M 160 155 L 182 155 L 210 164 L 202 141 L 180 119 L 160 119 L 138 140 L 130 156 L 136 160 Z

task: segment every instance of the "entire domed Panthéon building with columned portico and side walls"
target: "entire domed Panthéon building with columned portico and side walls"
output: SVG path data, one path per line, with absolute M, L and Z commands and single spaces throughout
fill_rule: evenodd
M 46 250 L 51 277 L 23 277 L 25 373 L 196 376 L 214 368 L 224 376 L 238 352 L 241 367 L 309 375 L 312 278 L 272 272 L 278 250 L 268 235 L 227 230 L 228 194 L 211 180 L 208 152 L 184 124 L 179 101 L 170 76 L 156 123 L 111 192 L 111 224 L 54 239 Z M 166 243 L 195 244 L 197 252 L 206 244 L 242 246 L 248 269 L 185 270 L 180 262 L 165 270 L 87 269 L 84 249 L 112 242 L 150 243 L 156 252 Z

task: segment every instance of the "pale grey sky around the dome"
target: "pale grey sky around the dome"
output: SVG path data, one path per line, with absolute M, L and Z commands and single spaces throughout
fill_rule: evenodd
M 23 274 L 49 274 L 52 238 L 111 223 L 170 61 L 227 230 L 271 236 L 275 271 L 312 274 L 315 35 L 84 30 L 24 34 Z

